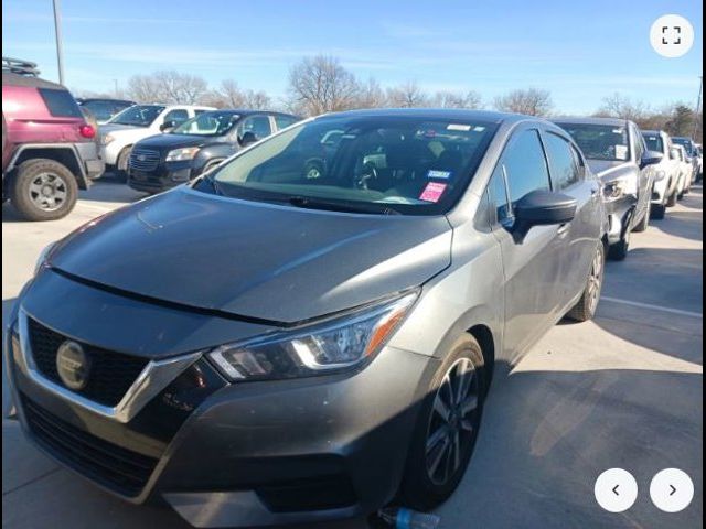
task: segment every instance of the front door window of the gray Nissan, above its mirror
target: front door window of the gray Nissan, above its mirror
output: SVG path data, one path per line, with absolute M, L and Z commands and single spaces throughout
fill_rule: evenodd
M 514 138 L 505 149 L 501 163 L 513 206 L 527 193 L 552 188 L 538 131 L 526 130 Z

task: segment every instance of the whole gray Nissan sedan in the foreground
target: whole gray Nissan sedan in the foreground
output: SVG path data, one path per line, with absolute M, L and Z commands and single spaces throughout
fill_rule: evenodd
M 593 316 L 606 218 L 544 120 L 297 123 L 43 252 L 4 344 L 23 430 L 199 527 L 430 509 L 493 369 Z

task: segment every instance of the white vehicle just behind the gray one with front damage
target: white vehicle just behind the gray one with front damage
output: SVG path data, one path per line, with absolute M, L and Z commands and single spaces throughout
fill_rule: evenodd
M 654 185 L 652 187 L 652 217 L 664 218 L 667 207 L 676 205 L 682 177 L 682 162 L 673 152 L 670 134 L 663 130 L 642 131 L 648 150 L 660 152 L 662 161 L 654 165 Z

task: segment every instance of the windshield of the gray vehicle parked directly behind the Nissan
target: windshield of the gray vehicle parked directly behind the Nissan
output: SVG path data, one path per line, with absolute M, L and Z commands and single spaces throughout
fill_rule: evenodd
M 559 123 L 590 160 L 624 162 L 630 159 L 628 128 L 612 125 Z

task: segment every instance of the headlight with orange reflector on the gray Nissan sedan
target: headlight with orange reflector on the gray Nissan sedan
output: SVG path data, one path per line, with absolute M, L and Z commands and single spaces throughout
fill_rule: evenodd
M 311 377 L 359 367 L 387 343 L 417 292 L 345 316 L 216 348 L 208 357 L 233 381 Z

